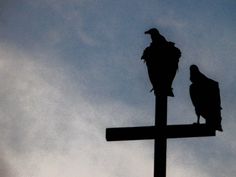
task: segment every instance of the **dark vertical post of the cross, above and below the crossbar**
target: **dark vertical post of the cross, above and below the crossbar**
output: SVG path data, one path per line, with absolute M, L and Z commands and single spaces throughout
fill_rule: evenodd
M 167 96 L 156 95 L 155 126 L 165 129 L 167 126 Z M 166 177 L 166 149 L 165 135 L 154 140 L 154 177 Z

